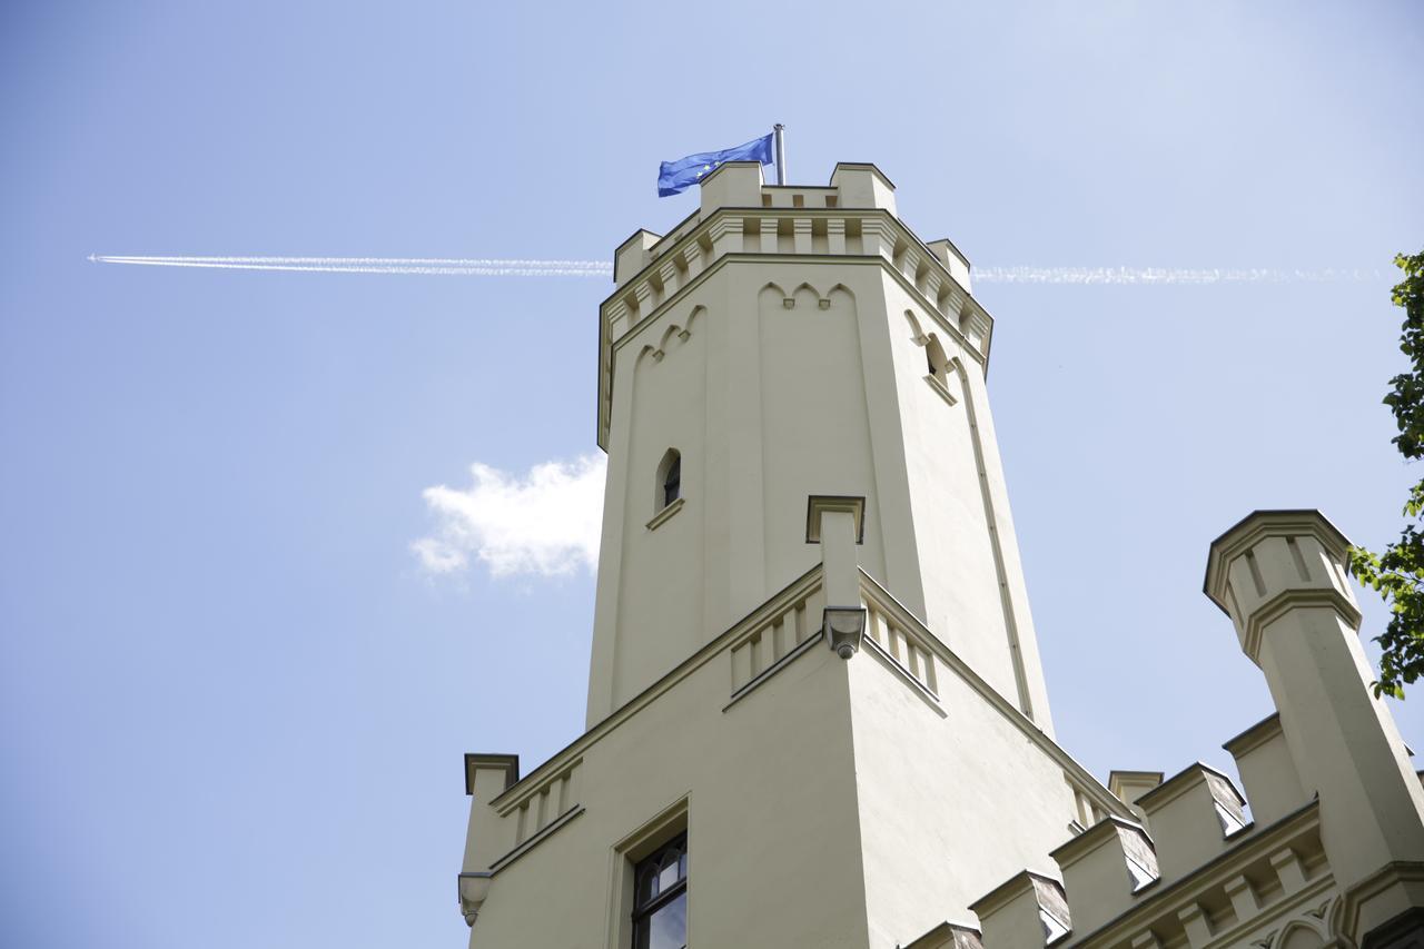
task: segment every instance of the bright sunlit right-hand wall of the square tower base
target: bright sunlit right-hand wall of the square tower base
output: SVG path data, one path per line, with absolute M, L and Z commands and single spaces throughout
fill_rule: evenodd
M 957 675 L 928 701 L 876 654 L 850 664 L 870 945 L 909 942 L 1068 839 L 1062 767 Z

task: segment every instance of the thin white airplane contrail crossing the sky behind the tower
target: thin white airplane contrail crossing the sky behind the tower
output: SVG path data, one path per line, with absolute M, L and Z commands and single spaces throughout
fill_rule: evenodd
M 322 274 L 413 274 L 437 276 L 598 276 L 608 261 L 466 256 L 135 256 L 91 254 L 95 264 L 195 266 L 229 271 L 309 271 Z M 984 266 L 981 284 L 1192 285 L 1192 284 L 1360 284 L 1383 279 L 1376 269 L 1172 268 L 1172 266 Z

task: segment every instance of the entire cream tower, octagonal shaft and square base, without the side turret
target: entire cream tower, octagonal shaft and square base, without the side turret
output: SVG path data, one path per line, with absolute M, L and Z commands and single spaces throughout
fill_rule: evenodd
M 467 755 L 476 946 L 890 949 L 1134 819 L 1052 740 L 965 258 L 873 165 L 701 197 L 617 251 L 587 731 Z

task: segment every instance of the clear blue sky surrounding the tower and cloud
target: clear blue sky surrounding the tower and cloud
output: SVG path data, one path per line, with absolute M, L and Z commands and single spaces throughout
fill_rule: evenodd
M 90 254 L 608 258 L 693 207 L 659 160 L 783 121 L 980 265 L 1378 269 L 978 289 L 1059 738 L 1176 771 L 1269 711 L 1210 539 L 1380 544 L 1421 473 L 1421 48 L 1408 3 L 6 4 L 0 943 L 463 945 L 461 752 L 582 727 L 587 571 L 410 544 L 471 463 L 595 450 L 607 282 Z

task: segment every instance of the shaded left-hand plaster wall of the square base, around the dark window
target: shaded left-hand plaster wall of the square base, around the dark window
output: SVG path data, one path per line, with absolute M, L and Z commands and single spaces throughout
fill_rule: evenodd
M 692 945 L 867 945 L 847 665 L 815 648 L 723 711 L 725 658 L 585 754 L 585 814 L 498 872 L 471 946 L 629 945 L 614 845 L 684 798 Z

